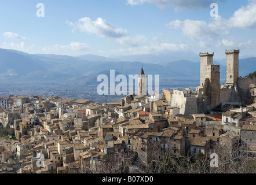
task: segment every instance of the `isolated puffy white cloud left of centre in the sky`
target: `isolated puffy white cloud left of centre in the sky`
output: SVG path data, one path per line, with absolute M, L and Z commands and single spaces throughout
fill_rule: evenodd
M 67 23 L 74 26 L 75 29 L 78 29 L 81 32 L 96 34 L 103 38 L 121 38 L 127 34 L 126 29 L 117 28 L 115 25 L 109 24 L 106 20 L 100 17 L 95 21 L 89 17 L 84 17 L 80 18 L 76 23 L 71 23 L 70 21 L 67 21 Z

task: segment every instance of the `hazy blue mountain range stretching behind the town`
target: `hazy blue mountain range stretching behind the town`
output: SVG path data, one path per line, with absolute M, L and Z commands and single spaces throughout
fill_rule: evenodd
M 178 55 L 178 54 L 177 54 Z M 167 61 L 166 58 L 171 58 Z M 0 49 L 0 83 L 70 83 L 85 86 L 98 84 L 97 76 L 109 75 L 115 70 L 116 75 L 136 75 L 143 66 L 146 75 L 160 75 L 161 81 L 195 80 L 200 78 L 200 58 L 175 60 L 171 54 L 165 56 L 143 55 L 126 56 L 125 60 L 115 57 L 102 57 L 92 54 L 83 56 L 64 56 L 55 54 L 28 54 L 16 50 Z M 165 59 L 164 59 L 165 58 Z M 147 62 L 147 60 L 149 62 Z M 155 61 L 155 62 L 153 62 Z M 221 82 L 226 76 L 225 65 L 220 65 Z M 239 60 L 239 75 L 246 76 L 256 69 L 256 57 Z

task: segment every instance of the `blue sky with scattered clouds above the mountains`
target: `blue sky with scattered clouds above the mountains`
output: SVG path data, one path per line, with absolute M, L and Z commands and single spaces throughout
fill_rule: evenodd
M 225 58 L 255 46 L 256 0 L 0 0 L 0 48 L 30 54 Z

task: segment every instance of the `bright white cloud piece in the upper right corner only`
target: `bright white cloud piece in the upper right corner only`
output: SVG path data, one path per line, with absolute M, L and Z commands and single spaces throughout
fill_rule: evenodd
M 231 18 L 229 27 L 254 28 L 256 27 L 256 1 L 251 1 L 246 7 L 242 6 Z

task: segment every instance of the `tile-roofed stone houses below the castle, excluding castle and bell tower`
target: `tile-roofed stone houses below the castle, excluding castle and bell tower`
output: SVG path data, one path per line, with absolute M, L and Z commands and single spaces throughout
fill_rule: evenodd
M 164 93 L 158 101 L 127 95 L 102 104 L 52 96 L 1 98 L 0 173 L 76 173 L 83 165 L 104 165 L 118 155 L 119 168 L 161 160 L 210 154 L 213 142 L 241 140 L 255 152 L 253 105 L 222 114 L 180 114 Z M 85 161 L 87 163 L 85 163 Z M 98 164 L 97 164 L 98 163 Z

